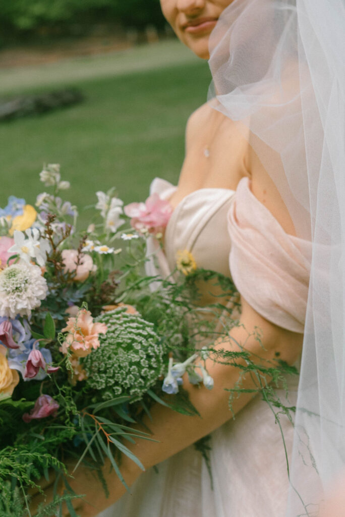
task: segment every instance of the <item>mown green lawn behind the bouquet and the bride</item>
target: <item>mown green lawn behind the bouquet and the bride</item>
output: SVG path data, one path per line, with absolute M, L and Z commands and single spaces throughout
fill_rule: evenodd
M 1 124 L 0 206 L 10 194 L 34 202 L 44 190 L 38 180 L 43 162 L 61 164 L 72 184 L 66 197 L 81 206 L 93 203 L 99 189 L 115 186 L 128 203 L 145 199 L 155 176 L 176 182 L 187 117 L 205 102 L 210 82 L 206 63 L 181 61 L 110 77 L 67 76 L 61 84 L 80 87 L 85 102 Z

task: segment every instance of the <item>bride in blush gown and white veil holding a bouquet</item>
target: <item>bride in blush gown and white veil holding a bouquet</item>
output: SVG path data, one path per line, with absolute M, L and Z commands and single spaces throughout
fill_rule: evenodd
M 241 394 L 232 419 L 225 390 L 236 384 L 239 371 L 209 360 L 212 391 L 184 381 L 201 418 L 152 408 L 148 427 L 157 442 L 131 446 L 146 472 L 127 457 L 122 462 L 131 493 L 108 465 L 108 499 L 87 470 L 77 471 L 72 486 L 87 494 L 83 517 L 99 511 L 99 517 L 321 515 L 322 490 L 344 468 L 344 5 L 161 0 L 161 6 L 180 40 L 210 59 L 213 90 L 188 121 L 177 187 L 159 178 L 151 185 L 174 212 L 164 252 L 153 240 L 149 251 L 155 251 L 162 275 L 174 269 L 176 252 L 186 249 L 199 267 L 232 277 L 242 325 L 222 347 L 237 349 L 234 343 L 245 341 L 263 360 L 293 364 L 305 332 L 298 401 L 293 382 L 286 401 L 297 405 L 295 427 L 281 418 L 286 458 L 264 401 Z M 153 272 L 154 264 L 149 267 Z M 205 284 L 205 303 L 212 301 L 208 293 Z M 247 339 L 258 328 L 263 346 Z M 243 387 L 253 387 L 249 376 Z M 213 489 L 192 445 L 210 433 Z

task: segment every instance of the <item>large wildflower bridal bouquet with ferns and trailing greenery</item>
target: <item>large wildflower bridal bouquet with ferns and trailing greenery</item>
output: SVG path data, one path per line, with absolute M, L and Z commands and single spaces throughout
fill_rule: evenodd
M 151 196 L 123 207 L 113 190 L 97 192 L 95 215 L 79 229 L 76 207 L 61 199 L 69 183 L 59 165 L 40 179 L 50 192 L 35 207 L 10 196 L 0 209 L 0 515 L 7 517 L 31 515 L 28 489 L 49 469 L 65 490 L 37 515 L 52 515 L 62 501 L 75 515 L 66 459 L 75 468 L 87 462 L 102 482 L 108 457 L 124 483 L 121 454 L 144 468 L 124 438 L 149 437 L 131 424 L 153 402 L 197 414 L 181 386 L 186 371 L 194 384 L 213 386 L 207 352 L 193 344 L 205 328 L 196 323 L 191 338 L 192 258 L 182 253 L 180 281 L 162 281 L 161 290 L 150 290 L 157 279 L 143 268 L 145 238 L 160 238 L 169 204 Z

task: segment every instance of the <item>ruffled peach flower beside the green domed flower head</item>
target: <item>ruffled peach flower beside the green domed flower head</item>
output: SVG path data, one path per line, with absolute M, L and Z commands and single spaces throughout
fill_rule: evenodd
M 69 332 L 66 341 L 61 345 L 60 351 L 67 354 L 68 348 L 77 357 L 85 357 L 92 349 L 100 346 L 99 334 L 105 334 L 105 323 L 94 323 L 90 311 L 81 309 L 76 318 L 68 318 L 67 326 L 62 332 Z

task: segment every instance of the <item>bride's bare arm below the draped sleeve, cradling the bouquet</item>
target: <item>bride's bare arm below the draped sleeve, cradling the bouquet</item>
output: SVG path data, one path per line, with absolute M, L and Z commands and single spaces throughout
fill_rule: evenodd
M 219 347 L 239 351 L 237 344 L 239 343 L 245 346 L 249 353 L 259 356 L 263 361 L 279 356 L 280 359 L 291 364 L 298 358 L 302 347 L 302 334 L 285 330 L 268 322 L 252 309 L 245 300 L 242 300 L 240 323 L 242 325 L 234 327 L 230 331 L 231 339 L 219 343 Z M 248 332 L 250 334 L 258 327 L 262 331 L 263 346 L 255 336 L 249 336 L 248 338 Z M 257 358 L 255 360 L 258 361 Z M 207 368 L 214 378 L 214 387 L 211 391 L 205 387 L 198 388 L 190 384 L 186 375 L 183 384 L 201 418 L 181 415 L 167 407 L 156 404 L 151 409 L 152 421 L 147 418 L 144 423 L 147 424 L 152 432 L 152 437 L 158 440 L 158 443 L 146 440 L 138 440 L 136 444 L 126 443 L 126 446 L 142 461 L 145 468 L 158 464 L 176 454 L 232 418 L 228 405 L 229 393 L 225 389 L 235 386 L 240 370 L 238 367 L 214 363 L 211 359 L 207 360 Z M 247 375 L 243 379 L 241 387 L 256 388 L 257 386 L 253 378 Z M 234 398 L 232 403 L 234 413 L 238 413 L 252 397 L 253 395 L 250 393 L 243 393 L 238 398 Z M 142 470 L 124 455 L 121 472 L 129 485 L 142 474 Z M 79 467 L 74 474 L 75 479 L 70 480 L 70 484 L 76 493 L 87 494 L 86 500 L 90 504 L 82 503 L 83 517 L 97 515 L 126 492 L 114 471 L 111 470 L 108 460 L 103 467 L 103 474 L 110 492 L 107 499 L 97 476 L 87 468 Z M 69 514 L 66 513 L 66 515 Z

